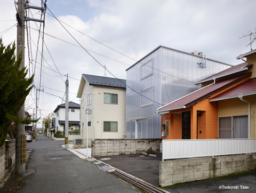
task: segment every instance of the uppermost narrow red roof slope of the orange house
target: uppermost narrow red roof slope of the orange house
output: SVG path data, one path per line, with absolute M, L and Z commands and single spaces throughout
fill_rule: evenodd
M 244 62 L 244 63 L 241 63 L 239 65 L 227 68 L 226 70 L 222 70 L 219 73 L 216 73 L 216 74 L 214 74 L 212 76 L 204 78 L 201 81 L 198 81 L 196 84 L 201 84 L 201 83 L 205 83 L 205 82 L 208 82 L 208 81 L 213 81 L 214 79 L 217 79 L 217 78 L 221 78 L 221 77 L 224 77 L 224 76 L 228 76 L 228 75 L 232 75 L 232 74 L 235 74 L 235 73 L 239 73 L 241 71 L 248 70 L 250 67 L 251 67 L 250 65 L 247 66 L 247 63 Z

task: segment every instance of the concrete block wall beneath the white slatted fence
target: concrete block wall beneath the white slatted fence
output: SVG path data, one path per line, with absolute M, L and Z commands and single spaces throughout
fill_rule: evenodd
M 171 186 L 256 169 L 256 154 L 169 160 L 159 163 L 159 184 Z

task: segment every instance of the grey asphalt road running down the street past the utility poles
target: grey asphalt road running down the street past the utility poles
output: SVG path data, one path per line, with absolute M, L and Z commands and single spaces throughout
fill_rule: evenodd
M 36 142 L 27 143 L 27 148 L 33 151 L 22 174 L 22 187 L 17 192 L 139 192 L 114 174 L 62 148 L 63 144 L 45 135 L 38 135 Z

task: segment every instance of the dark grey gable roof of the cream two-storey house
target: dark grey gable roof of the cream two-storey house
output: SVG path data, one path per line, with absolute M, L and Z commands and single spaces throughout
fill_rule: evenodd
M 92 86 L 102 86 L 102 87 L 124 89 L 124 90 L 126 89 L 125 79 L 82 74 L 81 81 L 78 87 L 78 92 L 76 95 L 77 98 L 81 98 L 85 82 L 87 82 L 89 85 L 92 85 Z

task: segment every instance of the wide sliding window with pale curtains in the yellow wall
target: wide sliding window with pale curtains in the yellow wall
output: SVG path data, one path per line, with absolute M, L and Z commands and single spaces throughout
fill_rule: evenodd
M 248 116 L 219 117 L 219 138 L 248 138 Z

